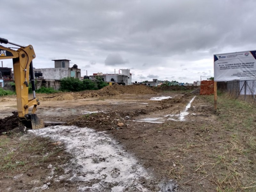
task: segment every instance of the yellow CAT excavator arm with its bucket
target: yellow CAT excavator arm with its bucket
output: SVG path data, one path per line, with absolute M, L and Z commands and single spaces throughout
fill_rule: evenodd
M 36 99 L 36 86 L 32 63 L 32 60 L 36 58 L 36 55 L 33 46 L 22 46 L 11 43 L 4 38 L 0 38 L 0 43 L 18 46 L 4 47 L 0 45 L 0 60 L 12 59 L 13 62 L 19 124 L 23 124 L 28 129 L 43 128 L 44 122 L 36 116 L 36 106 L 40 105 L 40 102 L 39 99 Z M 28 99 L 29 80 L 33 91 L 32 99 Z M 33 108 L 29 113 L 28 109 L 32 106 Z

